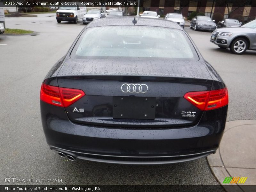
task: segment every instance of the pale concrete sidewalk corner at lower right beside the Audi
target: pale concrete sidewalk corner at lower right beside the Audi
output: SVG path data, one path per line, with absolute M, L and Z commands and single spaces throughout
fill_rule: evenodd
M 248 191 L 245 185 L 256 185 L 256 120 L 238 120 L 226 123 L 220 148 L 207 156 L 210 168 L 229 191 Z M 223 183 L 226 177 L 247 177 L 244 183 Z M 232 178 L 233 179 L 233 178 Z M 230 180 L 231 181 L 231 180 Z M 239 188 L 237 188 L 237 186 Z M 236 186 L 234 188 L 230 186 Z M 248 187 L 248 186 L 247 186 Z M 253 189 L 253 187 L 252 187 Z M 255 188 L 254 188 L 255 190 Z

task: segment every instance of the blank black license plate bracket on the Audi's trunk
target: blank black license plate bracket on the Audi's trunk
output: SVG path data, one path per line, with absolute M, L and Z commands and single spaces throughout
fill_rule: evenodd
M 113 97 L 113 118 L 155 119 L 155 97 Z

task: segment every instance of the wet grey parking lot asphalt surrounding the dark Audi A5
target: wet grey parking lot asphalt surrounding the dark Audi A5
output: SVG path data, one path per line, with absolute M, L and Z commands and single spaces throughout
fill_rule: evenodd
M 51 17 L 49 17 L 51 16 Z M 84 28 L 57 24 L 54 14 L 6 18 L 7 28 L 38 32 L 36 36 L 0 36 L 0 184 L 4 178 L 41 179 L 44 185 L 218 185 L 206 158 L 169 165 L 116 165 L 65 161 L 46 144 L 40 119 L 39 93 L 44 76 Z M 204 58 L 228 86 L 228 121 L 255 119 L 255 54 L 233 55 L 209 42 L 210 32 L 185 28 Z M 100 42 L 99 42 L 100 43 Z M 42 182 L 61 179 L 62 183 Z M 44 180 L 44 181 L 45 181 Z

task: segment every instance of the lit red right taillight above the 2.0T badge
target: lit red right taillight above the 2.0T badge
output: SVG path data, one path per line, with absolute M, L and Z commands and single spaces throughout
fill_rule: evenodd
M 188 92 L 184 98 L 202 111 L 228 105 L 228 89 Z

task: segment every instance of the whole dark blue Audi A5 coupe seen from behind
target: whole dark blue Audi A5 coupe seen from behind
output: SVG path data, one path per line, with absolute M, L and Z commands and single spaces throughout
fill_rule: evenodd
M 175 22 L 95 20 L 45 77 L 50 149 L 118 164 L 168 164 L 216 152 L 228 91 Z

